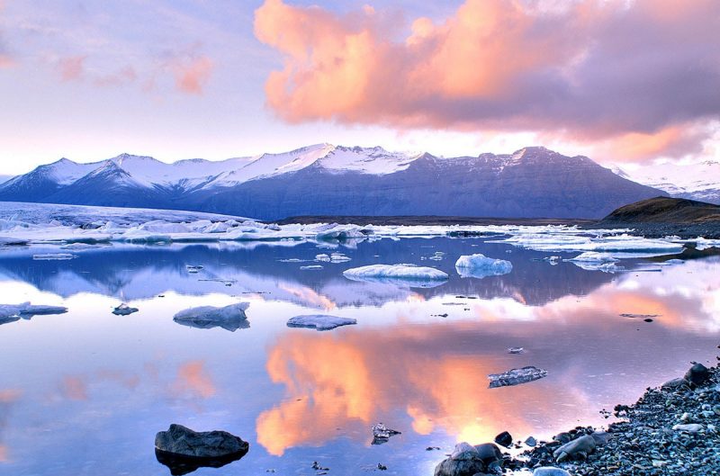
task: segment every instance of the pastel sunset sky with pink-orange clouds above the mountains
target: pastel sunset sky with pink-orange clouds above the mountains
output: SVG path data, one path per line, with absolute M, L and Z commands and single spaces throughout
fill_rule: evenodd
M 720 159 L 716 0 L 0 0 L 0 174 L 329 142 Z

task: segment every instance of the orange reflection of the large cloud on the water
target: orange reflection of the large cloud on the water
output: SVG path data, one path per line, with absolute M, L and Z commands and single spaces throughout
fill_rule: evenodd
M 447 349 L 428 355 L 428 346 L 457 338 L 445 333 L 444 326 L 395 326 L 282 337 L 270 352 L 267 371 L 274 382 L 284 383 L 288 399 L 257 418 L 258 443 L 282 455 L 296 445 L 321 445 L 339 436 L 338 428 L 369 443 L 372 424 L 390 425 L 384 417 L 397 408 L 405 409 L 418 433 L 442 429 L 458 441 L 482 443 L 506 426 L 525 433 L 535 427 L 523 413 L 523 401 L 535 402 L 533 412 L 552 411 L 549 393 L 559 390 L 546 382 L 488 389 L 488 373 L 507 365 L 501 357 Z

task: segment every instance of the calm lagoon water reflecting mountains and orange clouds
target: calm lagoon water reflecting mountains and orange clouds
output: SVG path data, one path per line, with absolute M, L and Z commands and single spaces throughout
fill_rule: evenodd
M 717 258 L 624 261 L 632 271 L 605 274 L 449 238 L 334 249 L 115 246 L 69 261 L 31 257 L 46 251 L 58 249 L 0 254 L 0 302 L 69 308 L 0 326 L 0 474 L 166 475 L 155 434 L 181 423 L 250 443 L 240 461 L 197 475 L 311 475 L 313 461 L 329 474 L 365 474 L 383 463 L 384 474 L 429 475 L 455 442 L 603 424 L 600 409 L 717 355 Z M 331 251 L 352 260 L 321 270 L 287 261 Z M 427 259 L 437 251 L 443 259 Z M 513 271 L 459 277 L 457 257 L 480 252 L 509 259 Z M 342 275 L 374 263 L 432 265 L 451 278 L 424 289 Z M 185 265 L 204 269 L 189 274 Z M 139 312 L 112 315 L 121 301 Z M 188 307 L 237 301 L 250 303 L 249 328 L 172 320 Z M 329 332 L 285 326 L 324 312 L 358 324 Z M 660 316 L 646 323 L 622 313 Z M 509 346 L 526 352 L 509 355 Z M 548 376 L 488 389 L 488 373 L 524 365 Z M 370 427 L 381 421 L 402 435 L 371 445 Z

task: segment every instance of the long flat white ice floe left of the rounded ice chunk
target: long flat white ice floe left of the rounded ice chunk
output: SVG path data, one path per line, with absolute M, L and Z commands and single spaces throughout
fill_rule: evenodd
M 448 275 L 439 269 L 417 265 L 368 265 L 343 272 L 347 279 L 369 283 L 391 283 L 410 287 L 434 287 Z

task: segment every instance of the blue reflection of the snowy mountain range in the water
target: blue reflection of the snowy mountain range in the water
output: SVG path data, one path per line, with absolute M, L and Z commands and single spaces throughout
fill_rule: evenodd
M 483 299 L 508 297 L 541 305 L 567 294 L 585 294 L 613 279 L 612 274 L 583 271 L 570 263 L 548 265 L 540 261 L 546 256 L 544 253 L 518 248 L 507 253 L 509 250 L 507 245 L 478 239 L 417 238 L 401 242 L 385 239 L 362 243 L 356 249 L 343 248 L 352 258 L 350 262 L 321 263 L 323 269 L 303 270 L 302 265 L 308 265 L 316 254 L 327 249 L 311 243 L 254 249 L 218 245 L 116 245 L 76 251 L 75 259 L 62 262 L 33 261 L 31 256 L 39 252 L 38 248 L 6 249 L 0 256 L 0 274 L 63 297 L 94 292 L 131 301 L 168 291 L 188 295 L 261 292 L 272 294 L 274 300 L 325 310 L 380 306 L 388 301 L 406 301 L 410 296 L 429 299 L 446 294 L 472 294 Z M 444 259 L 428 260 L 435 251 L 446 253 Z M 512 273 L 484 279 L 458 276 L 457 257 L 477 252 L 511 260 Z M 377 263 L 431 265 L 450 274 L 450 280 L 436 288 L 410 290 L 392 284 L 351 282 L 342 276 L 342 271 L 349 267 Z M 186 265 L 203 268 L 198 274 L 190 274 Z

